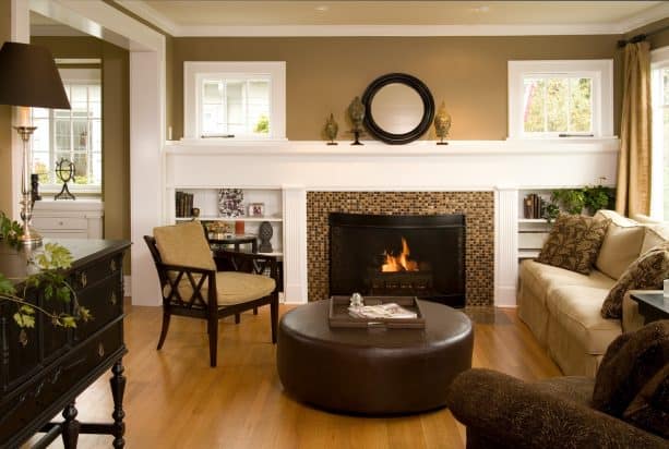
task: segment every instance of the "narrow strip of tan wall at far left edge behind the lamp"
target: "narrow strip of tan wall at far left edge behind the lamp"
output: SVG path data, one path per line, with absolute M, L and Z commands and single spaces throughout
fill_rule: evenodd
M 11 2 L 0 2 L 0 43 L 12 36 Z M 12 215 L 12 108 L 0 105 L 0 211 Z

